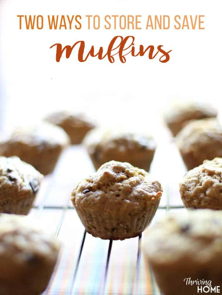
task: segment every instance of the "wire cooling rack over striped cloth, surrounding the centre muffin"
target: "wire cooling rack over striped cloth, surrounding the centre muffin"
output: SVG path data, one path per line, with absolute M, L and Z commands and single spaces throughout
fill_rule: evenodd
M 173 142 L 161 146 L 155 153 L 151 173 L 162 183 L 164 193 L 152 224 L 169 211 L 184 210 L 178 182 L 185 168 Z M 93 167 L 85 150 L 81 146 L 68 148 L 53 175 L 45 177 L 30 212 L 63 243 L 43 294 L 159 295 L 142 251 L 142 235 L 146 231 L 124 241 L 101 240 L 85 232 L 71 204 L 70 193 L 75 183 L 91 172 Z

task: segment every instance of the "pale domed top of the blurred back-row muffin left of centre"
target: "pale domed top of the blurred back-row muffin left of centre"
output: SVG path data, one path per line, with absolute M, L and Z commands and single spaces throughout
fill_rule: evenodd
M 85 118 L 83 114 L 73 114 L 69 111 L 59 111 L 53 114 L 50 114 L 45 118 L 45 121 L 50 122 L 52 124 L 56 124 L 58 126 L 69 125 L 73 128 L 94 128 L 95 125 Z

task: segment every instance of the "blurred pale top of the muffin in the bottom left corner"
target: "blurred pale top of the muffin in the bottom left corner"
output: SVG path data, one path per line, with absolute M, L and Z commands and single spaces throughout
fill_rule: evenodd
M 0 258 L 32 266 L 55 260 L 60 243 L 22 215 L 0 214 Z

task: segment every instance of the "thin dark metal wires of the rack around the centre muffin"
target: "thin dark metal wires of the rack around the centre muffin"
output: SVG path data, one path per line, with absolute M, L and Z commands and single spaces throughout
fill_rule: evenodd
M 58 163 L 57 168 L 59 167 L 60 163 Z M 40 204 L 38 206 L 35 207 L 35 209 L 37 210 L 37 214 L 36 214 L 36 218 L 40 219 L 42 216 L 42 212 L 44 212 L 45 209 L 57 209 L 57 210 L 62 210 L 62 214 L 57 222 L 56 225 L 56 230 L 55 230 L 55 236 L 57 237 L 60 233 L 60 229 L 63 225 L 63 221 L 66 215 L 67 210 L 72 209 L 75 210 L 73 207 L 69 206 L 69 201 L 70 201 L 70 197 L 68 197 L 66 204 L 64 206 L 48 206 L 46 205 L 47 199 L 49 197 L 49 194 L 54 186 L 55 183 L 55 179 L 56 179 L 56 175 L 57 175 L 57 168 L 55 169 L 50 184 L 47 187 L 47 190 L 45 192 L 45 196 L 43 197 L 42 201 L 40 202 Z M 159 209 L 164 209 L 166 210 L 166 212 L 168 212 L 169 208 L 170 209 L 179 209 L 179 208 L 183 208 L 182 206 L 172 206 L 170 207 L 170 202 L 169 202 L 169 191 L 166 189 L 166 197 L 167 197 L 167 201 L 166 201 L 166 206 L 160 206 Z M 76 280 L 76 276 L 78 273 L 78 269 L 79 269 L 79 264 L 80 264 L 80 260 L 81 260 L 81 256 L 84 250 L 84 244 L 85 244 L 85 238 L 86 238 L 86 230 L 84 230 L 83 235 L 82 235 L 82 239 L 79 245 L 79 250 L 78 250 L 78 255 L 77 255 L 77 259 L 76 259 L 76 263 L 73 266 L 73 277 L 72 277 L 72 281 L 71 281 L 71 285 L 70 285 L 70 290 L 68 291 L 68 295 L 73 295 L 73 289 L 74 289 L 74 284 L 75 284 L 75 280 Z M 141 261 L 141 242 L 142 242 L 142 234 L 139 235 L 138 237 L 138 246 L 137 246 L 137 262 L 136 262 L 136 271 L 135 271 L 135 275 L 134 275 L 134 279 L 132 280 L 131 283 L 131 292 L 130 295 L 136 295 L 137 294 L 137 289 L 138 289 L 138 282 L 139 282 L 139 271 L 140 271 L 140 261 Z M 113 245 L 113 241 L 110 240 L 109 241 L 109 245 L 108 245 L 108 250 L 107 250 L 107 255 L 106 255 L 106 264 L 105 264 L 105 268 L 103 270 L 103 279 L 102 279 L 102 283 L 100 285 L 100 288 L 98 289 L 97 294 L 99 295 L 103 295 L 106 294 L 105 290 L 106 290 L 106 283 L 107 283 L 107 275 L 108 275 L 108 271 L 109 271 L 109 262 L 110 262 L 110 257 L 111 257 L 111 251 L 112 251 L 112 245 Z M 54 274 L 57 270 L 57 268 L 60 267 L 60 261 L 61 259 L 58 259 L 57 265 L 55 267 L 55 271 Z M 152 271 L 150 271 L 151 274 L 151 283 L 153 284 L 154 279 L 152 276 Z M 42 295 L 54 295 L 50 292 L 50 286 L 53 282 L 54 279 L 54 274 L 52 275 L 51 281 L 47 287 L 47 289 L 45 290 L 45 292 Z M 61 294 L 61 293 L 59 293 Z M 67 293 L 66 293 L 67 294 Z M 157 293 L 159 294 L 159 293 Z M 144 294 L 145 295 L 145 294 Z M 153 294 L 154 295 L 154 294 Z

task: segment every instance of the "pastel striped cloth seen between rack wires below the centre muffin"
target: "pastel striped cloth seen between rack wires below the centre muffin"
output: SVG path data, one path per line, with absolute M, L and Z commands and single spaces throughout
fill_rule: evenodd
M 58 211 L 54 209 L 54 211 Z M 45 217 L 52 214 L 47 212 Z M 57 212 L 57 216 L 61 212 Z M 43 222 L 43 220 L 42 220 Z M 61 256 L 55 270 L 52 283 L 45 294 L 100 294 L 106 266 L 106 257 L 109 241 L 94 238 L 87 234 L 82 256 L 71 293 L 71 286 L 75 265 L 78 258 L 78 249 L 84 228 L 73 209 L 66 212 L 59 239 L 63 242 Z M 108 268 L 105 294 L 131 294 L 134 287 L 136 273 L 138 238 L 124 241 L 113 241 L 110 263 Z M 141 256 L 137 294 L 159 294 L 152 284 L 149 267 L 144 254 Z

